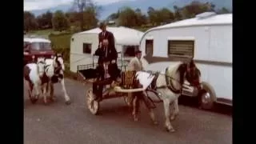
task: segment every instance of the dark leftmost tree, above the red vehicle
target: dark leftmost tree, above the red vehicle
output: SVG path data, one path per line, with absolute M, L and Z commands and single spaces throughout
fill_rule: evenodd
M 29 11 L 24 11 L 24 27 L 23 29 L 26 31 L 29 30 L 36 30 L 38 28 L 38 22 L 34 14 L 30 13 Z

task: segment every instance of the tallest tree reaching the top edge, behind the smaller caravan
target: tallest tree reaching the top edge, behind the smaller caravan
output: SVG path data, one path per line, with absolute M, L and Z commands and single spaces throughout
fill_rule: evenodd
M 98 15 L 102 7 L 97 6 L 93 0 L 74 0 L 73 11 L 78 12 L 80 29 L 84 30 L 84 26 L 98 22 Z M 96 22 L 96 23 L 97 23 Z

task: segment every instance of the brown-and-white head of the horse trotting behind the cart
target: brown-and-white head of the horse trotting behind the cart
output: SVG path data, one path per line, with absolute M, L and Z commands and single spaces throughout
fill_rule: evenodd
M 61 70 L 65 70 L 63 54 L 56 53 L 54 56 L 54 73 L 59 74 Z

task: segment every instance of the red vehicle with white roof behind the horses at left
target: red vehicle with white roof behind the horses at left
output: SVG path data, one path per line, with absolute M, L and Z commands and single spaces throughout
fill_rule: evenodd
M 45 38 L 24 38 L 24 65 L 28 62 L 36 62 L 37 58 L 53 58 L 54 51 L 51 42 Z

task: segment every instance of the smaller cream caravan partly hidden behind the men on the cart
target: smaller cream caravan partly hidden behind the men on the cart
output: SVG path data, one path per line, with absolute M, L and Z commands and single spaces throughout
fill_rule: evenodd
M 106 27 L 114 34 L 115 48 L 121 52 L 127 62 L 134 57 L 134 50 L 138 49 L 142 38 L 141 31 L 127 27 Z M 74 34 L 70 39 L 70 70 L 77 72 L 79 65 L 89 65 L 93 62 L 93 54 L 98 49 L 99 28 Z M 98 62 L 98 57 L 94 58 Z

